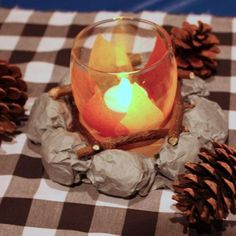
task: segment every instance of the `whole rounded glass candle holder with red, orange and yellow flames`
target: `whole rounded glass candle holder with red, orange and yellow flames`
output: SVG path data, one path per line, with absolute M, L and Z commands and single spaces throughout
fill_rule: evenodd
M 139 18 L 83 29 L 71 50 L 70 77 L 78 119 L 101 138 L 163 127 L 177 88 L 169 35 Z

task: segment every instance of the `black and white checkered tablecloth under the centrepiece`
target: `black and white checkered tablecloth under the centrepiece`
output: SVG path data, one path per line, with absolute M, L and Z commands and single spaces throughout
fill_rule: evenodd
M 74 36 L 86 25 L 121 12 L 62 13 L 0 9 L 0 58 L 17 63 L 28 83 L 27 113 L 37 96 L 60 82 L 68 71 Z M 126 13 L 126 15 L 133 15 Z M 202 20 L 221 40 L 219 67 L 207 81 L 209 99 L 220 104 L 229 121 L 230 145 L 236 144 L 236 18 L 210 15 L 135 14 L 169 30 L 184 20 Z M 146 198 L 112 198 L 91 185 L 72 188 L 49 180 L 37 147 L 25 134 L 0 149 L 0 235 L 196 235 L 184 231 L 169 190 L 152 191 Z M 222 232 L 235 235 L 230 215 Z

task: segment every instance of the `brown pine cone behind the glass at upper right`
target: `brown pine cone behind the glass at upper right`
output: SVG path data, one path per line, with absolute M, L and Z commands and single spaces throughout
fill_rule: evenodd
M 191 72 L 208 78 L 216 72 L 219 40 L 208 24 L 198 21 L 197 26 L 184 22 L 182 28 L 172 28 L 171 39 L 179 78 L 191 77 Z

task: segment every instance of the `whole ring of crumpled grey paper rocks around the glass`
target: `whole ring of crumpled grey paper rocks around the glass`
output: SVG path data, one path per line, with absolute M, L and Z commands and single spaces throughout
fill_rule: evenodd
M 92 183 L 98 191 L 117 197 L 145 196 L 151 189 L 168 187 L 183 171 L 186 161 L 194 161 L 202 146 L 210 141 L 225 141 L 227 121 L 209 94 L 206 83 L 196 78 L 183 80 L 182 96 L 195 105 L 184 114 L 183 123 L 190 130 L 182 133 L 177 146 L 165 140 L 155 157 L 105 150 L 78 160 L 76 151 L 86 142 L 79 133 L 68 132 L 71 113 L 66 99 L 53 100 L 41 95 L 32 108 L 28 138 L 41 145 L 42 163 L 49 177 L 60 184 Z

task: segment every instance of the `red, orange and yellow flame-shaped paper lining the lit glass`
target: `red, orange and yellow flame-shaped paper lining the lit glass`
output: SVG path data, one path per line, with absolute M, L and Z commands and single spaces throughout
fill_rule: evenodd
M 165 45 L 158 37 L 146 67 L 166 53 Z M 71 64 L 73 95 L 80 119 L 86 126 L 105 137 L 161 127 L 172 108 L 176 89 L 174 70 L 169 70 L 174 65 L 169 60 L 163 60 L 158 71 L 147 70 L 136 80 L 131 79 L 129 73 L 125 73 L 133 70 L 125 47 L 98 35 L 88 64 L 103 73 Z M 109 72 L 116 76 L 109 78 Z

